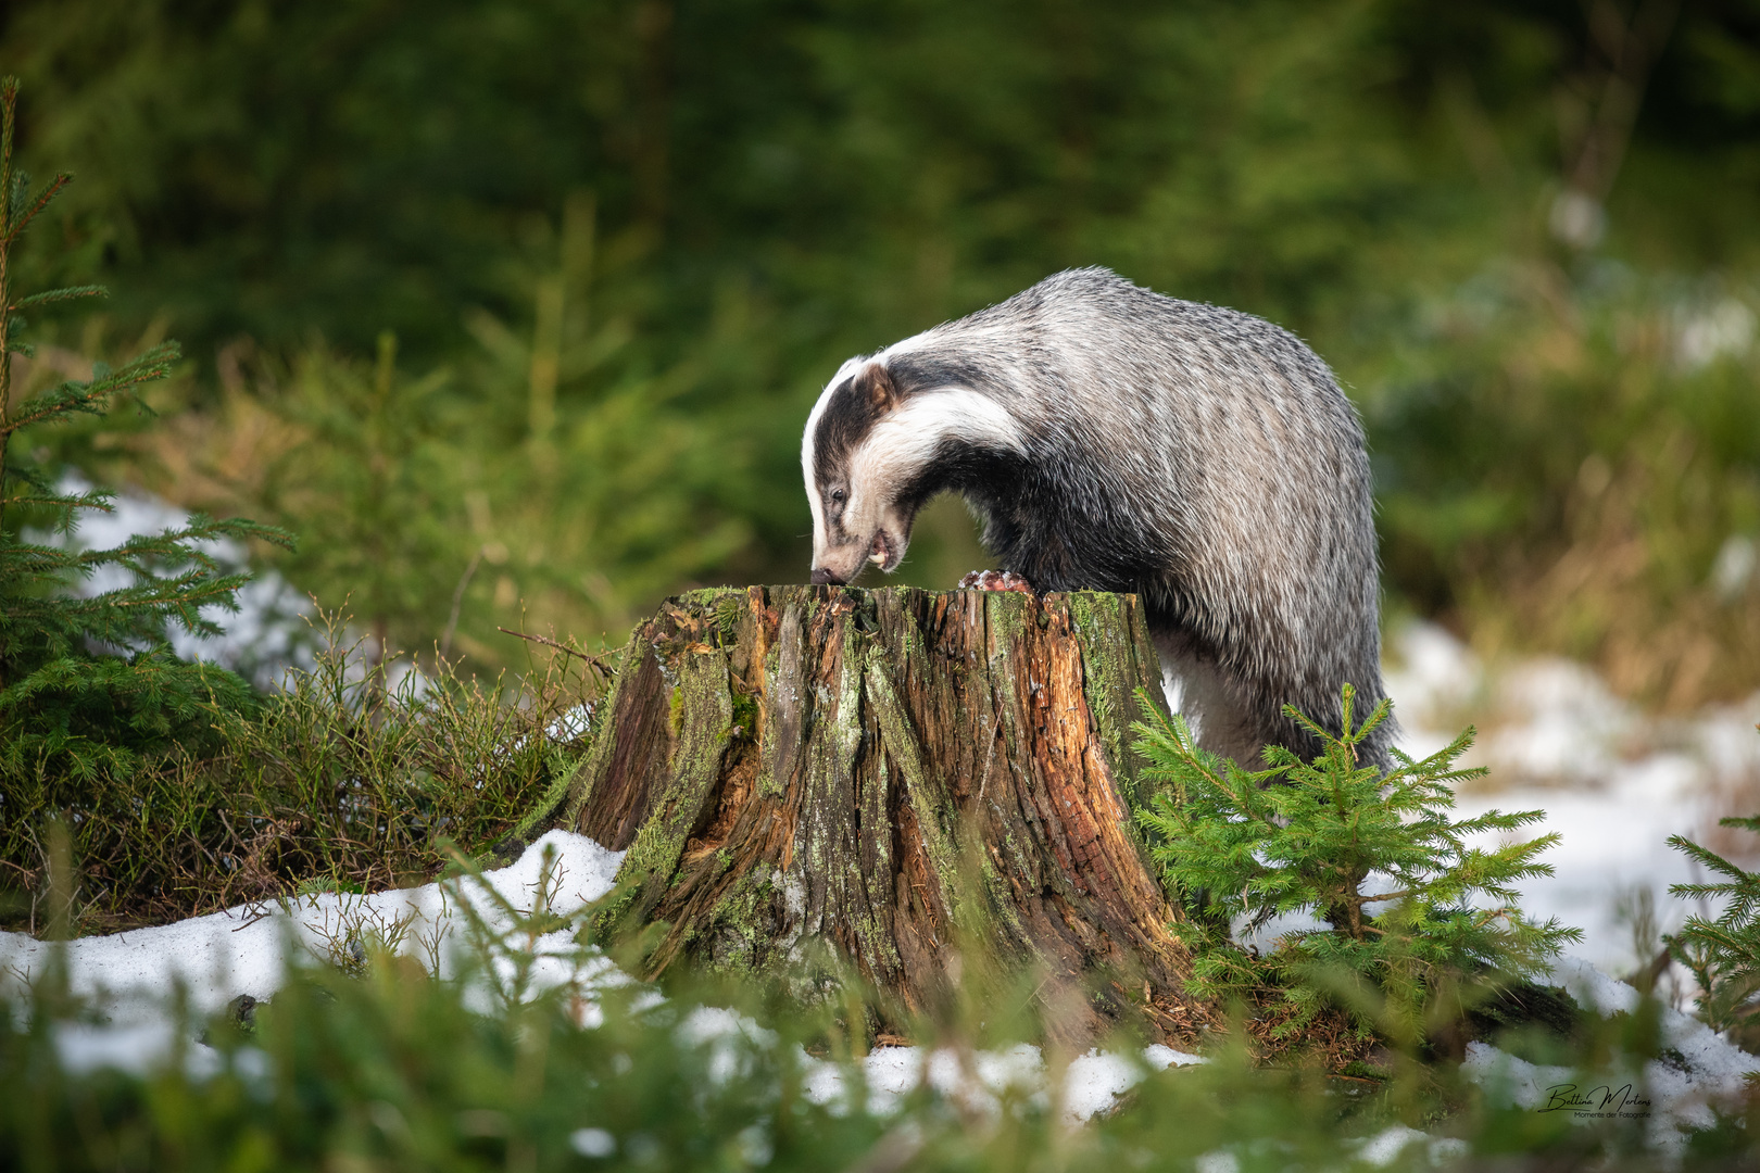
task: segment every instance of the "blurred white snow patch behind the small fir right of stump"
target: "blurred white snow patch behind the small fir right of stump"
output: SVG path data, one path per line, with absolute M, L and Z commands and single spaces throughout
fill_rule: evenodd
M 1667 893 L 1704 879 L 1667 839 L 1704 841 L 1720 816 L 1760 811 L 1760 693 L 1660 719 L 1565 659 L 1487 668 L 1433 624 L 1412 624 L 1389 645 L 1387 689 L 1406 753 L 1434 753 L 1468 725 L 1480 730 L 1466 763 L 1491 774 L 1459 795 L 1461 816 L 1540 809 L 1545 821 L 1522 837 L 1561 835 L 1542 856 L 1556 876 L 1515 886 L 1535 916 L 1584 930 L 1577 955 L 1609 973 L 1637 969 L 1637 893 L 1654 897 L 1661 932 L 1700 911 Z M 1751 849 L 1760 853 L 1760 837 Z

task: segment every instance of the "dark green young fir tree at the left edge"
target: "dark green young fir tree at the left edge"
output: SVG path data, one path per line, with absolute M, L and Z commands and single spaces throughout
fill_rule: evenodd
M 16 104 L 18 81 L 7 77 L 0 83 L 0 776 L 92 781 L 128 769 L 143 753 L 201 739 L 216 716 L 253 705 L 243 679 L 178 659 L 167 635 L 174 628 L 218 635 L 211 610 L 238 608 L 234 594 L 248 575 L 224 572 L 208 549 L 216 538 L 282 545 L 289 538 L 255 522 L 197 515 L 181 529 L 104 550 L 30 540 L 26 524 L 69 533 L 81 510 L 111 510 L 111 494 L 60 489 L 55 470 L 14 441 L 28 429 L 106 415 L 121 403 L 144 410 L 141 387 L 169 373 L 178 348 L 162 343 L 118 368 L 100 362 L 90 380 L 12 401 L 11 355 L 32 355 L 19 339 L 19 311 L 104 292 L 81 285 L 19 295 L 12 288 L 9 262 L 19 234 L 69 181 L 60 174 L 32 192 L 14 167 Z M 127 584 L 77 589 L 99 573 Z

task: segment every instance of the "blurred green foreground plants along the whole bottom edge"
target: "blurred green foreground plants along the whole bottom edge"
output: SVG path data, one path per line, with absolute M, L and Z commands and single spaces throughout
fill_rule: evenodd
M 994 1099 L 920 1087 L 882 1115 L 869 1101 L 855 1039 L 834 1008 L 674 987 L 665 999 L 612 981 L 535 992 L 533 941 L 546 965 L 604 964 L 584 934 L 558 944 L 579 914 L 517 914 L 496 930 L 468 902 L 473 948 L 461 973 L 435 980 L 400 932 L 359 927 L 338 965 L 310 958 L 246 1022 L 176 1022 L 185 1041 L 146 1071 L 72 1064 L 83 1008 L 51 967 L 25 997 L 0 1002 L 0 1152 L 23 1168 L 334 1169 L 929 1169 L 1112 1173 L 1119 1168 L 1426 1169 L 1448 1159 L 1610 1173 L 1748 1168 L 1748 1117 L 1720 1117 L 1684 1154 L 1656 1145 L 1642 1118 L 1595 1120 L 1500 1108 L 1456 1073 L 1332 1080 L 1313 1067 L 1255 1066 L 1239 1038 L 1213 1039 L 1209 1062 L 1140 1083 L 1086 1126 L 1061 1118 L 1056 1094 L 1010 1087 Z M 588 909 L 590 911 L 590 909 Z M 547 936 L 546 936 L 547 934 Z M 398 955 L 401 951 L 401 955 Z M 588 1006 L 586 1002 L 597 1002 Z M 961 1078 L 980 1057 L 996 1004 L 963 992 L 943 1046 Z M 732 1020 L 727 1006 L 743 1011 Z M 702 1009 L 708 1008 L 708 1013 Z M 1654 1002 L 1602 1022 L 1551 1060 L 1580 1087 L 1644 1089 L 1656 1057 Z M 590 1025 L 583 1025 L 583 1020 Z M 723 1024 L 716 1029 L 716 1022 Z M 1123 1057 L 1135 1041 L 1116 1039 Z M 810 1057 L 811 1055 L 811 1057 Z M 1047 1089 L 1068 1055 L 1047 1052 Z M 945 1062 L 943 1059 L 943 1062 Z M 1019 1055 L 1016 1055 L 1019 1059 Z M 1126 1060 L 1128 1062 L 1128 1060 Z M 810 1083 L 836 1073 L 843 1094 L 820 1103 Z M 1654 1094 L 1654 1092 L 1653 1092 Z M 984 1101 L 991 1101 L 986 1106 Z M 1658 1101 L 1661 1097 L 1658 1096 Z M 1632 1113 L 1633 1117 L 1637 1113 Z M 1744 1127 L 1748 1126 L 1748 1127 Z M 1406 1148 L 1389 1162 L 1369 1138 Z M 593 1133 L 586 1133 L 593 1129 Z M 1746 1154 L 1746 1155 L 1744 1155 Z

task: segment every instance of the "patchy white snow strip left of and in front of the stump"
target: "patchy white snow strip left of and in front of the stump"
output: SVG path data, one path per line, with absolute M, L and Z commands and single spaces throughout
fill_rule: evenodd
M 0 932 L 0 990 L 21 992 L 25 983 L 44 974 L 51 951 L 62 948 L 70 992 L 99 1018 L 56 1027 L 56 1045 L 69 1069 L 146 1071 L 183 1050 L 190 1073 L 206 1076 L 220 1069 L 216 1053 L 202 1046 L 178 1046 L 172 1008 L 180 994 L 201 1022 L 239 995 L 257 1001 L 273 997 L 285 983 L 289 965 L 299 964 L 301 951 L 347 964 L 363 937 L 377 937 L 440 976 L 454 976 L 461 953 L 493 936 L 500 946 L 488 950 L 493 958 L 491 985 L 473 987 L 480 1009 L 493 1009 L 496 997 L 532 997 L 572 985 L 583 995 L 576 1001 L 579 1022 L 591 1029 L 604 1020 L 591 999 L 593 990 L 628 985 L 632 978 L 597 951 L 583 953 L 568 927 L 533 939 L 510 930 L 516 913 L 568 916 L 604 897 L 621 863 L 621 851 L 553 830 L 526 848 L 516 863 L 482 872 L 480 879 L 239 906 L 174 925 L 81 937 L 62 946 Z M 516 985 L 519 953 L 537 958 L 523 987 Z M 651 994 L 642 1004 L 658 1001 Z M 773 1031 L 713 1006 L 693 1009 L 678 1032 L 686 1045 L 711 1048 L 709 1078 L 715 1080 L 741 1076 L 739 1043 L 776 1043 Z M 808 1067 L 806 1092 L 813 1101 L 829 1104 L 854 1094 L 850 1073 L 843 1067 L 804 1053 L 801 1060 Z M 1065 1067 L 1063 1115 L 1072 1124 L 1086 1120 L 1109 1110 L 1116 1096 L 1149 1071 L 1195 1062 L 1204 1060 L 1169 1046 L 1149 1046 L 1139 1055 L 1089 1050 Z M 866 1055 L 857 1071 L 868 1108 L 876 1113 L 896 1111 L 924 1082 L 970 1110 L 996 1111 L 998 1097 L 1008 1090 L 1042 1101 L 1047 1080 L 1044 1057 L 1028 1045 L 970 1055 L 947 1048 L 882 1046 Z

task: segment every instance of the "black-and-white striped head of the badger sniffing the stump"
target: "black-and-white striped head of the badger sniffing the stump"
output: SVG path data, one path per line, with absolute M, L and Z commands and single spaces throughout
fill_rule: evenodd
M 980 448 L 1021 450 L 1016 422 L 968 387 L 906 390 L 876 359 L 852 359 L 818 396 L 801 440 L 813 506 L 813 582 L 891 573 L 917 510 Z

